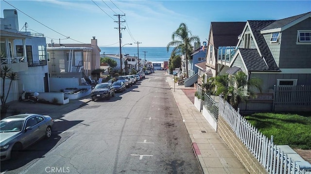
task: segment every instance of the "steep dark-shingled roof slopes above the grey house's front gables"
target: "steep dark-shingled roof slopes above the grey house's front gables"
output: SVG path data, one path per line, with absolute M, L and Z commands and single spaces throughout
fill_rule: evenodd
M 262 70 L 268 70 L 268 71 L 279 71 L 280 69 L 278 68 L 276 61 L 274 60 L 274 57 L 266 43 L 266 40 L 264 39 L 263 35 L 260 33 L 260 30 L 270 24 L 272 24 L 275 20 L 248 20 L 249 27 L 254 35 L 254 39 L 258 45 L 259 52 L 257 52 L 257 55 L 255 54 L 255 50 L 252 49 L 241 49 L 241 54 L 243 59 L 247 59 L 248 55 L 254 55 L 254 59 L 259 61 L 260 65 L 258 62 L 248 62 L 250 64 L 245 65 L 248 70 L 252 71 L 262 71 Z M 249 52 L 248 52 L 249 51 Z M 243 53 L 242 53 L 243 52 Z M 260 57 L 260 54 L 261 57 Z M 246 57 L 243 57 L 246 56 Z M 260 59 L 258 59 L 260 57 Z M 264 64 L 266 64 L 264 67 Z M 254 65 L 251 65 L 254 64 Z M 258 68 L 258 69 L 257 69 Z

